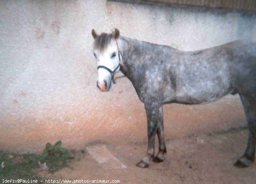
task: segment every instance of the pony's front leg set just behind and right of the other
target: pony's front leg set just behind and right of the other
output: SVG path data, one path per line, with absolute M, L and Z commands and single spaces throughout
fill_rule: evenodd
M 157 120 L 157 137 L 159 142 L 159 151 L 154 158 L 154 162 L 162 162 L 166 157 L 166 145 L 163 134 L 163 106 L 159 108 Z

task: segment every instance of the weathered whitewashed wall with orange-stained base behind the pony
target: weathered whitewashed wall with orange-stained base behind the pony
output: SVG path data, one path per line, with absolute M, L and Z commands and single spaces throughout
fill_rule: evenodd
M 143 104 L 128 79 L 96 88 L 91 29 L 192 51 L 256 40 L 255 15 L 106 2 L 0 1 L 0 149 L 47 142 L 146 141 Z M 245 124 L 239 96 L 209 105 L 165 105 L 166 139 Z

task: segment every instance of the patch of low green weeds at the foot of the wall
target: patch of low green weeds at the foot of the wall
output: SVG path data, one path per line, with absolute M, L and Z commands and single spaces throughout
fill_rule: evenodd
M 47 143 L 43 153 L 15 154 L 0 151 L 0 178 L 1 179 L 41 179 L 37 173 L 41 170 L 39 163 L 46 163 L 48 172 L 54 173 L 62 167 L 67 167 L 74 157 L 69 151 L 61 147 L 61 141 L 53 146 Z M 40 161 L 40 162 L 39 162 Z

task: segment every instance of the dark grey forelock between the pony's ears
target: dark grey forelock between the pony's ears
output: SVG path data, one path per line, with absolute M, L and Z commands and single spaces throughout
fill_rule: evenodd
M 100 52 L 105 51 L 112 38 L 113 34 L 102 33 L 95 39 L 93 48 L 99 50 Z

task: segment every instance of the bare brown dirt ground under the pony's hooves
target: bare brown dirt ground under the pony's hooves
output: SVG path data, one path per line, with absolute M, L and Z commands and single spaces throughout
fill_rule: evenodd
M 146 142 L 106 144 L 127 169 L 106 169 L 91 155 L 84 153 L 70 162 L 70 168 L 54 174 L 42 171 L 41 176 L 72 181 L 119 180 L 120 184 L 255 184 L 255 163 L 243 169 L 233 166 L 235 159 L 243 153 L 246 140 L 247 130 L 167 140 L 166 160 L 162 163 L 151 162 L 145 169 L 135 164 L 144 156 Z

